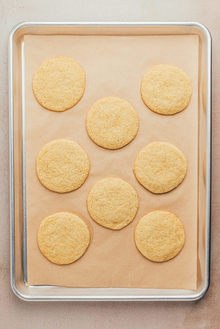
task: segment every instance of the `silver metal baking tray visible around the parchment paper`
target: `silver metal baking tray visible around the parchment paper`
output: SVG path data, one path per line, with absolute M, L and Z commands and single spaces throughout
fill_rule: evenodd
M 24 35 L 199 35 L 197 290 L 28 286 Z M 11 286 L 23 300 L 196 300 L 210 281 L 211 36 L 197 22 L 24 22 L 9 35 Z

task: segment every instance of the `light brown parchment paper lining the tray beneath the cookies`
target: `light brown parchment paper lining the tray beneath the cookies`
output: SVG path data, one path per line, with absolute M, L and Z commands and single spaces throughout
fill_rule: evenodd
M 32 91 L 36 68 L 57 55 L 75 59 L 86 74 L 83 97 L 65 112 L 43 108 Z M 143 74 L 161 63 L 176 65 L 190 77 L 192 98 L 188 107 L 178 114 L 154 113 L 141 99 Z M 90 107 L 106 96 L 126 99 L 136 109 L 140 120 L 136 138 L 118 150 L 96 145 L 85 127 Z M 196 290 L 198 36 L 25 36 L 25 111 L 28 284 Z M 85 183 L 68 193 L 47 190 L 36 174 L 36 158 L 41 148 L 51 140 L 62 138 L 79 143 L 90 160 Z M 173 143 L 187 159 L 185 179 L 164 194 L 146 190 L 133 173 L 137 154 L 153 141 Z M 87 193 L 104 177 L 124 179 L 138 193 L 140 204 L 135 219 L 118 231 L 97 224 L 87 211 Z M 184 247 L 168 262 L 147 260 L 134 242 L 134 229 L 139 219 L 153 210 L 174 213 L 185 228 Z M 41 221 L 62 211 L 79 215 L 91 234 L 85 254 L 69 265 L 51 263 L 37 244 Z

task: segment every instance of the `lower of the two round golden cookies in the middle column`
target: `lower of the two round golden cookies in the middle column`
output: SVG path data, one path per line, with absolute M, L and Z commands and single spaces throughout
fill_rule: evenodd
M 134 219 L 138 210 L 138 195 L 122 179 L 104 178 L 91 188 L 87 196 L 87 208 L 94 221 L 112 230 L 119 230 Z

